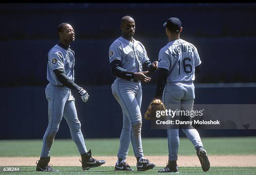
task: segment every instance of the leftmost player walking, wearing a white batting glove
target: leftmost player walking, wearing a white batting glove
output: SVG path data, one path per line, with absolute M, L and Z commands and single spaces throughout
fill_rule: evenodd
M 89 170 L 104 164 L 105 160 L 96 160 L 92 158 L 91 150 L 87 152 L 81 124 L 77 117 L 75 99 L 71 93 L 71 89 L 76 90 L 83 102 L 87 102 L 89 97 L 86 90 L 74 83 L 74 51 L 69 46 L 75 38 L 74 29 L 68 23 L 61 23 L 58 27 L 58 35 L 59 43 L 48 53 L 49 84 L 46 86 L 45 93 L 48 100 L 49 124 L 44 134 L 41 157 L 36 163 L 36 171 L 58 172 L 49 164 L 49 153 L 62 116 L 66 119 L 72 139 L 81 154 L 82 169 Z

